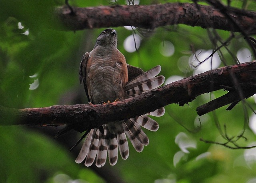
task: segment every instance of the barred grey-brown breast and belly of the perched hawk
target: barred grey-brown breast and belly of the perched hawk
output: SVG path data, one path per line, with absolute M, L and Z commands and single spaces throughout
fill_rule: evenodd
M 87 69 L 87 87 L 92 103 L 124 99 L 122 64 L 111 56 L 94 56 Z M 127 68 L 126 68 L 127 69 Z

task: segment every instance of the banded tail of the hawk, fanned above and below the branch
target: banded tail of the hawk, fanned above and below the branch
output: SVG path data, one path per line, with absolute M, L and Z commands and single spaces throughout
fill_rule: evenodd
M 156 66 L 127 82 L 124 88 L 125 98 L 130 98 L 161 86 L 164 83 L 164 76 L 156 76 L 160 70 L 161 67 Z M 122 159 L 127 159 L 129 147 L 126 136 L 130 139 L 135 150 L 141 152 L 144 145 L 149 143 L 149 139 L 144 131 L 142 131 L 141 126 L 150 131 L 157 131 L 158 123 L 148 117 L 148 115 L 162 116 L 164 112 L 164 107 L 161 107 L 144 115 L 115 123 L 108 123 L 102 125 L 103 132 L 98 128 L 91 129 L 76 158 L 76 162 L 81 163 L 85 160 L 84 164 L 90 166 L 96 159 L 96 166 L 102 167 L 105 165 L 108 155 L 110 165 L 115 165 L 118 160 L 118 149 Z

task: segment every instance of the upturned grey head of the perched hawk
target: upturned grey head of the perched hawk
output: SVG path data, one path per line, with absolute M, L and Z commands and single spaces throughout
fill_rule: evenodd
M 102 33 L 100 33 L 100 35 L 96 40 L 96 44 L 94 48 L 96 48 L 96 46 L 116 47 L 117 46 L 116 30 L 108 28 L 102 31 Z

